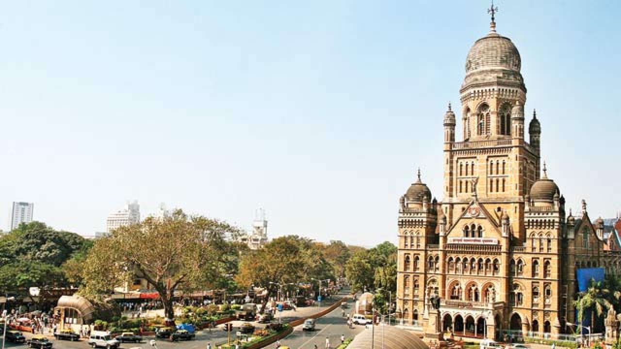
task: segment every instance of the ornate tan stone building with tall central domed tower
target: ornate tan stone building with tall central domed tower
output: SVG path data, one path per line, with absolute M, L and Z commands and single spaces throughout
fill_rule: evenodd
M 404 324 L 432 331 L 425 328 L 429 298 L 438 294 L 442 329 L 456 335 L 554 337 L 576 322 L 576 269 L 619 270 L 618 236 L 604 237 L 604 222 L 591 221 L 584 201 L 581 212 L 566 212 L 548 178 L 534 111 L 525 125 L 521 64 L 514 43 L 496 32 L 492 11 L 489 33 L 466 58 L 461 108 L 449 104 L 443 118 L 443 200 L 419 171 L 399 202 L 397 316 Z

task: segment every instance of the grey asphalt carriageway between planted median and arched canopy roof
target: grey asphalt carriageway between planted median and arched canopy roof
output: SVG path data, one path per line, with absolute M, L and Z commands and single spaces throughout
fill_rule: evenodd
M 351 299 L 348 301 L 348 306 L 346 311 L 351 312 L 353 308 L 353 301 Z M 348 329 L 347 318 L 342 316 L 342 309 L 337 308 L 330 312 L 330 314 L 317 319 L 314 331 L 303 331 L 302 325 L 299 325 L 294 328 L 288 337 L 281 340 L 280 344 L 291 349 L 314 349 L 315 345 L 319 349 L 324 349 L 325 338 L 327 337 L 330 339 L 330 347 L 336 348 L 341 343 L 341 335 L 345 335 L 345 338 L 353 338 L 364 329 L 364 326 L 359 325 L 354 325 L 353 329 Z M 276 348 L 275 345 L 270 347 L 272 349 Z

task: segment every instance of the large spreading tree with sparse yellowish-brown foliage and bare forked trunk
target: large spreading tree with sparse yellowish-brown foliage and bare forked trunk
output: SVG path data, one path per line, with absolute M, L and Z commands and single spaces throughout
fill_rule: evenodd
M 84 262 L 84 294 L 110 294 L 114 286 L 143 278 L 153 285 L 173 319 L 173 292 L 211 288 L 226 268 L 225 236 L 236 230 L 206 217 L 177 210 L 148 217 L 99 238 Z

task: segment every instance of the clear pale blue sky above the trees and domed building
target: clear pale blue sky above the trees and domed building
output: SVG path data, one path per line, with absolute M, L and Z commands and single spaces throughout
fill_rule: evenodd
M 549 176 L 568 207 L 615 215 L 619 2 L 497 5 Z M 272 237 L 394 241 L 415 168 L 440 194 L 442 117 L 486 7 L 2 2 L 0 222 L 32 201 L 35 219 L 89 235 L 137 199 L 143 215 L 166 202 L 242 227 L 264 207 Z

